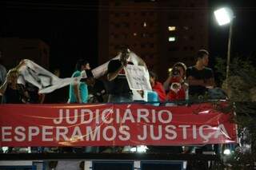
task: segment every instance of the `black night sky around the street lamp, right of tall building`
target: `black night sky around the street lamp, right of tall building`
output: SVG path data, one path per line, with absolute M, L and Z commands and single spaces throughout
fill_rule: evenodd
M 225 56 L 227 53 L 227 42 L 229 25 L 218 26 L 214 19 L 214 10 L 219 6 L 228 6 L 234 12 L 233 34 L 231 43 L 231 57 L 255 55 L 255 33 L 256 33 L 256 1 L 254 0 L 211 0 L 210 5 L 210 52 L 211 56 Z M 255 63 L 256 64 L 256 63 Z

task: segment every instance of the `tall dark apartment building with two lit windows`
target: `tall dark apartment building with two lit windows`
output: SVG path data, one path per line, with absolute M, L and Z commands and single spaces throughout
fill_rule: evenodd
M 207 0 L 101 0 L 98 62 L 127 45 L 163 81 L 175 62 L 193 65 L 194 53 L 208 49 L 207 6 Z

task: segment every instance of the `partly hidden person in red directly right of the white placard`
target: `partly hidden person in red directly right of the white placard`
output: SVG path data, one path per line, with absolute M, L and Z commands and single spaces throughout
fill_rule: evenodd
M 158 93 L 158 100 L 163 102 L 166 101 L 166 92 L 162 86 L 162 83 L 158 81 L 157 74 L 150 72 L 150 85 L 152 89 Z

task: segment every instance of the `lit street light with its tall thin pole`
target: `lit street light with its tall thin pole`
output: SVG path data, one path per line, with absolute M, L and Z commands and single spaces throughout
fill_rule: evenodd
M 230 71 L 230 46 L 231 46 L 231 38 L 232 38 L 232 21 L 234 18 L 234 13 L 232 10 L 230 10 L 230 8 L 225 7 L 225 8 L 215 10 L 214 16 L 219 26 L 230 24 L 229 42 L 227 46 L 227 59 L 226 59 L 226 80 L 227 80 L 229 76 L 229 71 Z

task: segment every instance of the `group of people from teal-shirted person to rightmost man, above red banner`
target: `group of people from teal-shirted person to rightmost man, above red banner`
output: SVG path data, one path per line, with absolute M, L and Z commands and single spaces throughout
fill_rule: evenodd
M 82 70 L 86 70 L 89 75 L 78 85 L 70 85 L 70 103 L 87 103 L 89 94 L 96 97 L 93 102 L 134 102 L 146 101 L 168 103 L 174 101 L 184 101 L 190 99 L 204 99 L 208 92 L 214 89 L 214 73 L 208 68 L 209 53 L 205 49 L 198 50 L 195 55 L 195 65 L 186 67 L 182 62 L 174 64 L 169 77 L 162 84 L 158 81 L 156 73 L 150 71 L 150 85 L 152 91 L 130 89 L 124 68 L 126 65 L 142 65 L 146 63 L 139 58 L 138 63 L 130 58 L 130 50 L 123 48 L 118 59 L 110 60 L 107 66 L 106 79 L 104 83 L 94 79 L 90 72 L 90 64 L 86 60 L 77 63 L 76 71 L 72 77 L 79 77 Z M 96 83 L 95 83 L 96 82 Z M 88 92 L 88 89 L 89 92 Z M 134 99 L 135 93 L 141 96 Z M 107 97 L 102 97 L 107 95 Z M 145 97 L 146 95 L 146 97 Z M 89 100 L 92 102 L 92 100 Z

